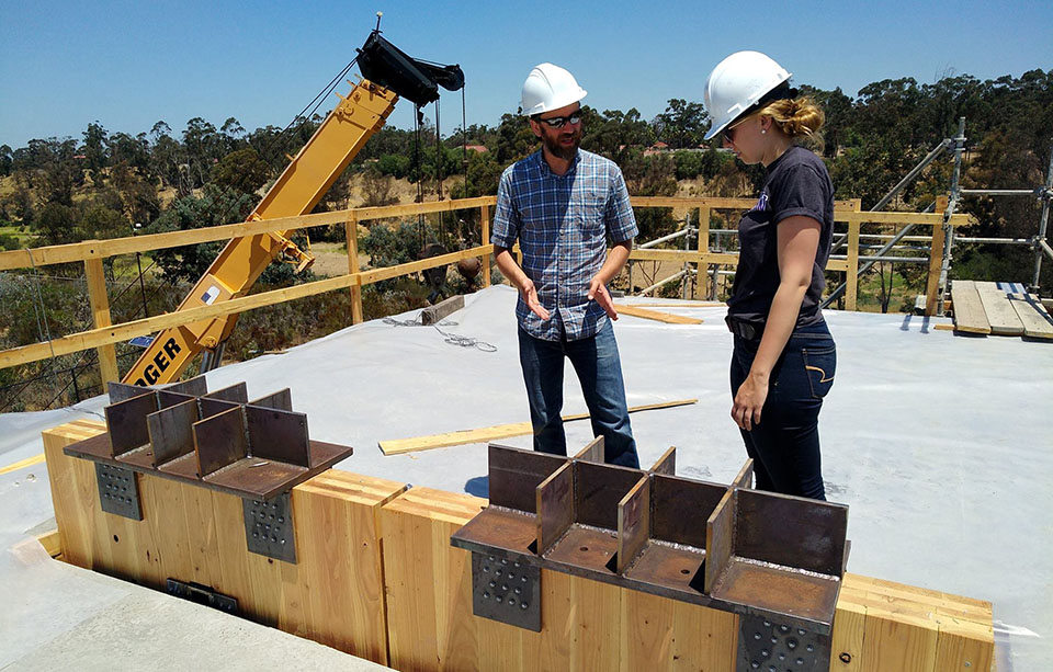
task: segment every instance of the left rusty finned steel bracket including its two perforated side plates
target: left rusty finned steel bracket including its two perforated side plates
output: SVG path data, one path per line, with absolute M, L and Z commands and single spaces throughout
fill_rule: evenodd
M 244 383 L 208 392 L 197 377 L 165 388 L 111 383 L 110 394 L 106 432 L 64 448 L 95 463 L 104 511 L 143 519 L 136 474 L 236 494 L 249 549 L 296 562 L 290 490 L 353 451 L 312 441 L 288 389 L 249 401 Z

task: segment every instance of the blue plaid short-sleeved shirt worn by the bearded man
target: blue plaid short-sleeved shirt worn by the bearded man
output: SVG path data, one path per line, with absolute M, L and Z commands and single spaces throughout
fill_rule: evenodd
M 607 261 L 607 239 L 624 242 L 637 232 L 625 180 L 613 161 L 578 150 L 570 170 L 557 175 L 537 151 L 509 166 L 497 190 L 490 242 L 511 249 L 519 239 L 523 271 L 552 315 L 542 320 L 520 296 L 520 327 L 545 341 L 595 335 L 608 318 L 588 299 L 589 282 Z

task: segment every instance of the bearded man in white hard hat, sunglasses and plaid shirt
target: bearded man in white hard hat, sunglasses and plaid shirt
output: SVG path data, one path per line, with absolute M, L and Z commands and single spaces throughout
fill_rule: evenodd
M 566 357 L 592 432 L 603 436 L 605 462 L 638 467 L 610 322 L 618 312 L 607 291 L 629 259 L 636 219 L 618 166 L 578 149 L 585 95 L 563 68 L 545 62 L 530 72 L 523 114 L 542 147 L 501 175 L 490 242 L 501 273 L 519 288 L 519 357 L 534 449 L 567 454 L 559 414 Z M 511 253 L 517 239 L 522 267 Z

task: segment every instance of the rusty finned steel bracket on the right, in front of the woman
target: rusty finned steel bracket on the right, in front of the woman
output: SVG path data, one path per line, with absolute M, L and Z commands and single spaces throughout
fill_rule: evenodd
M 602 455 L 602 440 L 574 457 L 491 444 L 489 506 L 451 544 L 830 634 L 847 506 L 752 490 L 751 460 L 720 485 L 676 476 L 673 448 L 646 471 Z M 478 585 L 478 571 L 473 579 Z M 476 614 L 491 617 L 478 603 Z

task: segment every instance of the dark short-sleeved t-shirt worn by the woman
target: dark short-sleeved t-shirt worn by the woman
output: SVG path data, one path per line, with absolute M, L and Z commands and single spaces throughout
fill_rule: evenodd
M 804 295 L 797 327 L 823 321 L 819 300 L 826 278 L 823 269 L 830 255 L 834 235 L 834 184 L 823 159 L 793 146 L 768 167 L 768 178 L 754 209 L 738 223 L 738 269 L 728 315 L 751 322 L 768 319 L 779 288 L 775 227 L 786 217 L 803 215 L 822 225 L 812 266 L 812 284 Z

